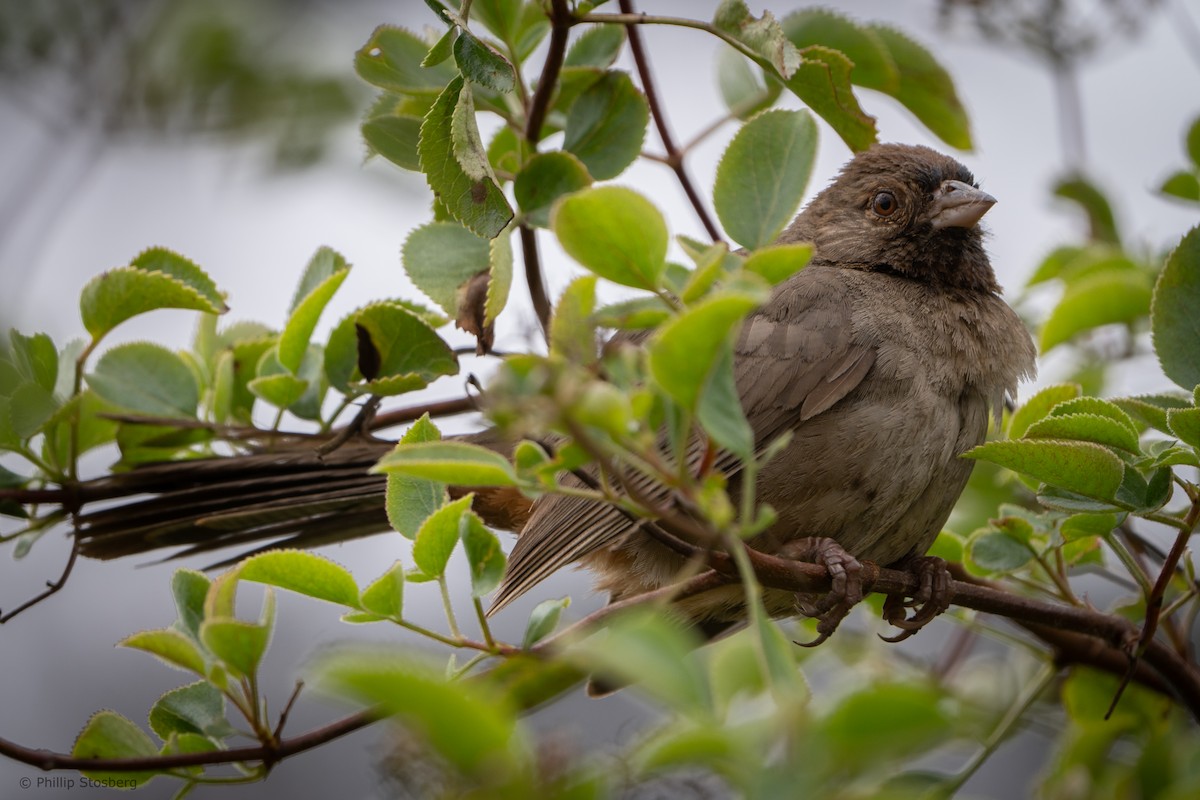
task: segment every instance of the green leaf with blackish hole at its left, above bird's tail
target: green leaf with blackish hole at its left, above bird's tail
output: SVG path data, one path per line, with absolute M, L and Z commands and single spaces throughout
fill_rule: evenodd
M 454 350 L 416 314 L 398 303 L 379 302 L 361 308 L 355 326 L 378 357 L 378 378 L 366 384 L 374 395 L 424 389 L 442 375 L 458 372 Z M 389 386 L 386 379 L 402 379 Z M 397 391 L 398 387 L 398 391 Z

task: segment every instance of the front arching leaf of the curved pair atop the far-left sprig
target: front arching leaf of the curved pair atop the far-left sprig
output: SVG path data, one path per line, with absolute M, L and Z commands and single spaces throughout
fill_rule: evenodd
M 155 263 L 152 259 L 150 263 Z M 199 272 L 199 267 L 196 267 Z M 210 296 L 206 275 L 188 276 L 119 266 L 88 282 L 79 296 L 83 326 L 98 339 L 138 314 L 158 308 L 184 308 L 223 314 L 228 308 L 220 295 Z

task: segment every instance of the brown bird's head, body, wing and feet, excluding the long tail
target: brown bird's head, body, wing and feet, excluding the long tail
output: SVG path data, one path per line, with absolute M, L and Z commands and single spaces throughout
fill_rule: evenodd
M 979 218 L 995 204 L 960 163 L 928 148 L 877 145 L 858 155 L 780 236 L 810 241 L 812 261 L 779 285 L 744 324 L 734 378 L 758 446 L 791 431 L 791 444 L 758 474 L 757 497 L 779 515 L 751 541 L 766 553 L 828 561 L 850 577 L 850 557 L 913 565 L 930 594 L 929 549 L 971 474 L 961 453 L 984 440 L 989 413 L 1032 377 L 1036 350 L 998 295 Z M 716 468 L 737 489 L 738 463 Z M 533 507 L 509 559 L 493 610 L 572 561 L 613 601 L 674 581 L 684 558 L 616 509 L 574 497 Z M 836 626 L 859 588 L 806 610 Z M 929 597 L 922 597 L 922 601 Z M 768 609 L 794 613 L 773 590 Z M 914 628 L 941 610 L 904 620 Z M 943 608 L 944 606 L 942 606 Z M 744 619 L 731 585 L 688 601 L 708 634 Z

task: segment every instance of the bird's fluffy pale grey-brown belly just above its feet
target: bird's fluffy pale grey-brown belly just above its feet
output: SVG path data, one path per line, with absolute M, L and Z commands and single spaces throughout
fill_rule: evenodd
M 847 399 L 850 399 L 847 397 Z M 760 473 L 760 500 L 779 521 L 755 542 L 766 552 L 828 536 L 851 554 L 892 564 L 924 553 L 958 500 L 983 441 L 988 403 L 894 384 L 839 403 L 803 425 Z

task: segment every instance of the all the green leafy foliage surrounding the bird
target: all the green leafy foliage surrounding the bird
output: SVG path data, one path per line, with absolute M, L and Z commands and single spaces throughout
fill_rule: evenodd
M 640 157 L 648 121 L 661 113 L 629 73 L 612 66 L 629 37 L 640 35 L 623 26 L 631 20 L 595 12 L 601 4 L 593 2 L 475 0 L 457 11 L 437 0 L 428 5 L 443 26 L 438 36 L 380 26 L 355 55 L 355 68 L 377 90 L 361 125 L 368 150 L 421 172 L 433 192 L 434 219 L 409 233 L 403 264 L 437 308 L 382 299 L 316 341 L 324 308 L 352 271 L 337 252 L 320 248 L 281 325 L 222 324 L 227 307 L 212 279 L 182 255 L 149 249 L 84 287 L 88 338 L 60 348 L 41 333 L 11 333 L 0 357 L 0 450 L 24 467 L 22 474 L 0 470 L 0 512 L 19 521 L 6 539 L 20 553 L 70 510 L 16 499 L 23 491 L 76 486 L 79 458 L 92 449 L 115 445 L 114 469 L 126 469 L 238 451 L 270 439 L 290 417 L 331 437 L 353 432 L 356 423 L 340 427 L 353 403 L 378 403 L 457 373 L 456 355 L 438 333 L 450 320 L 478 336 L 481 353 L 490 350 L 488 329 L 512 279 L 510 240 L 522 236 L 527 275 L 536 282 L 534 231 L 548 228 L 581 276 L 542 320 L 546 351 L 508 356 L 487 389 L 492 422 L 521 444 L 510 461 L 444 440 L 428 416 L 419 420 L 374 467 L 388 476 L 391 524 L 413 540 L 412 564 L 397 561 L 370 582 L 301 551 L 257 554 L 211 579 L 176 572 L 175 622 L 121 645 L 156 656 L 191 682 L 150 710 L 157 739 L 113 711 L 96 714 L 74 747 L 76 757 L 102 759 L 88 774 L 138 783 L 169 776 L 186 792 L 220 780 L 205 766 L 221 763 L 247 735 L 239 727 L 262 747 L 257 756 L 226 759 L 241 764 L 239 780 L 258 780 L 278 758 L 299 752 L 282 736 L 287 711 L 272 724 L 258 687 L 275 622 L 274 591 L 282 589 L 332 604 L 347 622 L 396 625 L 451 649 L 449 663 L 431 654 L 362 648 L 312 666 L 323 691 L 364 706 L 354 724 L 389 717 L 413 736 L 430 795 L 612 796 L 628 783 L 698 771 L 744 796 L 944 796 L 1022 714 L 1062 729 L 1042 778 L 1046 796 L 1098 796 L 1090 792 L 1133 786 L 1146 796 L 1194 793 L 1200 736 L 1184 708 L 1079 666 L 1056 682 L 1052 660 L 1070 663 L 1062 650 L 1014 646 L 1009 674 L 1021 685 L 980 692 L 978 681 L 989 676 L 984 664 L 953 680 L 899 658 L 886 669 L 872 667 L 886 645 L 870 636 L 844 631 L 817 652 L 793 648 L 767 618 L 762 576 L 739 543 L 769 525 L 773 512 L 755 501 L 752 480 L 731 498 L 724 475 L 692 458 L 690 445 L 698 440 L 707 445 L 702 450 L 732 453 L 752 475 L 780 445 L 754 440 L 733 386 L 731 343 L 770 288 L 811 255 L 805 245 L 770 242 L 805 191 L 817 139 L 814 115 L 852 149 L 864 149 L 874 142 L 874 120 L 854 86 L 870 88 L 907 107 L 947 144 L 970 146 L 965 112 L 934 56 L 900 32 L 827 11 L 779 22 L 727 0 L 712 23 L 637 19 L 637 26 L 697 28 L 730 48 L 721 56 L 730 67 L 722 92 L 726 118 L 739 128 L 716 168 L 712 204 L 728 237 L 749 252 L 731 252 L 715 236 L 679 237 L 691 261 L 685 265 L 668 260 L 670 225 L 652 199 L 595 185 Z M 534 55 L 547 36 L 539 71 Z M 772 108 L 785 90 L 809 112 Z M 487 144 L 482 115 L 502 122 Z M 1189 155 L 1196 161 L 1194 148 Z M 958 533 L 944 531 L 935 553 L 960 561 L 971 576 L 1002 582 L 996 585 L 1016 600 L 1055 600 L 1046 603 L 1051 614 L 1091 610 L 1073 584 L 1081 571 L 1121 576 L 1136 597 L 1106 614 L 1136 621 L 1142 638 L 1124 643 L 1127 655 L 1146 656 L 1163 640 L 1186 657 L 1186 631 L 1200 608 L 1190 561 L 1181 559 L 1200 517 L 1200 488 L 1188 477 L 1189 468 L 1200 467 L 1200 228 L 1168 258 L 1152 258 L 1122 242 L 1106 200 L 1085 179 L 1072 176 L 1056 193 L 1082 207 L 1091 235 L 1051 253 L 1030 279 L 1026 300 L 1061 288 L 1040 325 L 1040 347 L 1070 349 L 1080 366 L 1015 409 L 1007 438 L 994 432 L 994 440 L 967 453 L 988 463 L 964 504 L 968 511 L 982 506 L 983 516 L 966 527 L 970 517 L 960 513 L 952 523 Z M 707 215 L 698 201 L 697 212 Z M 601 306 L 601 281 L 634 293 Z M 190 349 L 137 342 L 101 351 L 127 319 L 168 308 L 199 314 Z M 1092 338 L 1114 326 L 1130 350 L 1148 330 L 1163 372 L 1181 391 L 1098 397 L 1094 367 L 1102 359 Z M 646 332 L 601 347 L 604 329 Z M 272 423 L 256 427 L 264 414 Z M 582 488 L 559 482 L 562 473 L 588 464 L 600 480 Z M 516 487 L 530 497 L 569 492 L 634 517 L 661 518 L 665 510 L 625 475 L 670 485 L 714 549 L 738 563 L 750 625 L 702 649 L 668 615 L 647 607 L 559 630 L 563 599 L 534 609 L 520 644 L 497 640 L 481 599 L 503 575 L 504 552 L 472 510 L 473 495 L 451 498 L 446 487 Z M 1153 552 L 1138 534 L 1145 522 L 1178 535 L 1158 572 L 1148 567 Z M 468 564 L 463 587 L 452 585 L 448 569 L 458 551 Z M 253 621 L 235 609 L 245 583 L 266 587 Z M 445 631 L 406 615 L 406 593 L 426 583 L 442 594 Z M 478 637 L 463 632 L 451 591 L 469 595 Z M 953 614 L 970 630 L 994 628 L 966 608 Z M 460 664 L 458 650 L 473 657 Z M 810 687 L 806 675 L 832 669 L 846 680 Z M 620 770 L 606 768 L 612 757 L 582 753 L 552 764 L 521 718 L 588 674 L 636 682 L 631 691 L 665 711 L 661 724 L 640 733 L 618 757 Z M 1159 675 L 1163 681 L 1170 679 Z M 1103 721 L 1117 696 L 1115 714 Z M 241 720 L 235 724 L 230 716 Z M 978 756 L 946 774 L 914 766 L 961 741 L 973 742 Z M 136 769 L 120 763 L 128 758 L 138 759 Z

